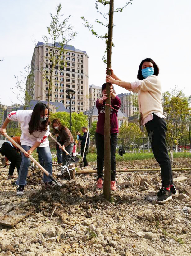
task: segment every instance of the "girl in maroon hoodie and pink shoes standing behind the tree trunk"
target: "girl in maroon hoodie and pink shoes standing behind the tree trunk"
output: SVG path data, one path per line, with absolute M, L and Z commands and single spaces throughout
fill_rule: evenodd
M 117 112 L 121 106 L 121 100 L 115 94 L 113 85 L 111 85 L 111 190 L 116 190 L 116 147 L 117 147 L 117 133 L 118 120 Z M 97 99 L 96 108 L 98 109 L 98 122 L 95 133 L 96 149 L 97 149 L 97 188 L 103 187 L 103 166 L 104 166 L 104 124 L 105 124 L 105 100 L 107 99 L 106 94 L 106 83 L 102 85 L 102 97 Z M 114 106 L 115 105 L 115 106 Z

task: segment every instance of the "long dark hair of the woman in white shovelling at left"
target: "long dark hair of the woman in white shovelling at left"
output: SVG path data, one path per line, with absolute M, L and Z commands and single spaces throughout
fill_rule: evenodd
M 43 112 L 44 115 L 44 110 L 48 109 L 47 105 L 44 103 L 37 103 L 34 106 L 30 121 L 29 121 L 29 133 L 32 134 L 35 131 L 46 131 L 47 126 L 50 124 L 49 117 L 41 122 L 40 121 L 40 113 Z M 48 115 L 49 115 L 49 109 L 48 109 Z

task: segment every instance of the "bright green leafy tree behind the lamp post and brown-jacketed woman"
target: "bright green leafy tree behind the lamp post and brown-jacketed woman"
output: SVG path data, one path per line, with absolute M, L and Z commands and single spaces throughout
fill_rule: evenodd
M 76 133 L 79 131 L 81 132 L 82 126 L 88 125 L 87 116 L 84 115 L 82 112 L 79 114 L 77 113 L 71 113 L 71 133 L 74 138 L 76 138 Z M 53 119 L 59 119 L 61 124 L 69 128 L 69 122 L 70 122 L 70 114 L 68 112 L 56 112 L 56 113 L 50 113 L 50 121 L 52 123 Z M 52 129 L 52 125 L 50 127 Z

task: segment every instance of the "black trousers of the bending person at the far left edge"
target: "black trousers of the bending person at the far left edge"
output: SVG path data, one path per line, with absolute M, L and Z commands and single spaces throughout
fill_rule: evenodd
M 16 148 L 12 147 L 8 142 L 4 142 L 1 147 L 1 154 L 6 156 L 7 159 L 11 162 L 8 175 L 13 175 L 15 167 L 17 169 L 17 173 L 19 173 L 22 157 L 17 152 Z

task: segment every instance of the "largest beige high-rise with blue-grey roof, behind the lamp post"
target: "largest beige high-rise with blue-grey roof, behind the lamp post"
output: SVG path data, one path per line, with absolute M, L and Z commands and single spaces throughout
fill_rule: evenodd
M 86 96 L 89 95 L 88 86 L 88 55 L 85 51 L 74 46 L 65 45 L 64 54 L 59 54 L 61 46 L 56 43 L 55 58 L 60 58 L 52 74 L 52 90 L 50 102 L 61 102 L 66 109 L 70 109 L 69 96 L 66 89 L 74 89 L 72 97 L 72 112 L 83 112 Z M 27 79 L 27 90 L 32 99 L 48 99 L 48 80 L 50 79 L 51 58 L 53 45 L 38 42 L 34 48 L 31 60 L 31 72 Z

